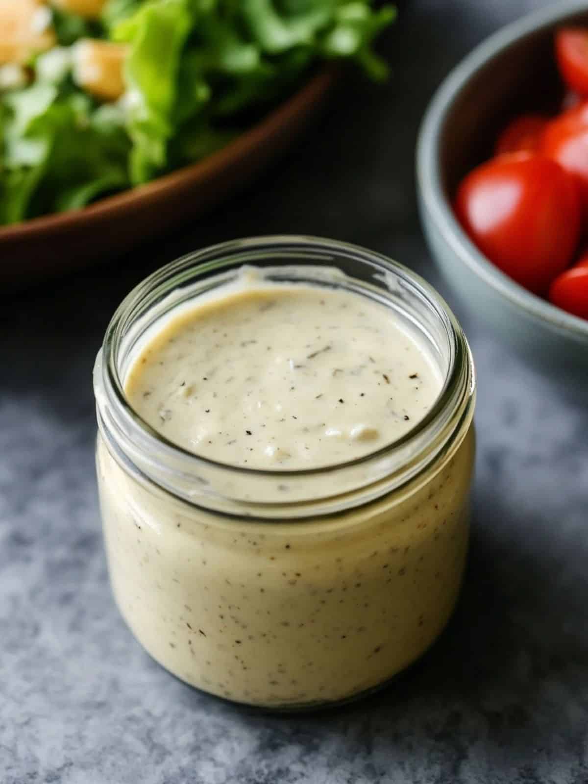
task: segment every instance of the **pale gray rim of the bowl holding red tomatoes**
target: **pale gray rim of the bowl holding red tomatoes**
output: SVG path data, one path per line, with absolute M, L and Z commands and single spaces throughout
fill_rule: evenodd
M 437 88 L 426 109 L 416 143 L 416 181 L 424 209 L 461 263 L 477 274 L 511 305 L 535 321 L 547 322 L 555 331 L 576 339 L 588 339 L 588 321 L 567 313 L 546 299 L 532 294 L 499 270 L 470 240 L 454 215 L 441 183 L 439 140 L 448 112 L 470 79 L 495 57 L 522 38 L 554 27 L 575 13 L 588 13 L 586 0 L 565 0 L 522 16 L 478 44 L 452 68 Z

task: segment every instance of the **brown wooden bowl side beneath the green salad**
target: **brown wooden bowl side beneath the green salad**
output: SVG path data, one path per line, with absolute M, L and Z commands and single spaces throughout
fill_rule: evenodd
M 85 209 L 0 227 L 0 281 L 25 282 L 121 256 L 219 204 L 285 151 L 317 114 L 327 67 L 223 150 Z

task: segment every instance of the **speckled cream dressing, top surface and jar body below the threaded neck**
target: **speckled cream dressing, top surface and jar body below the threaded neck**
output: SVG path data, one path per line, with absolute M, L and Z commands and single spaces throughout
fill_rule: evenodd
M 313 318 L 302 325 L 301 312 Z M 273 470 L 337 463 L 394 441 L 440 385 L 426 351 L 386 308 L 312 287 L 232 292 L 184 310 L 151 336 L 126 376 L 132 405 L 169 440 Z M 354 437 L 360 426 L 368 437 Z M 154 659 L 212 694 L 276 708 L 359 695 L 417 659 L 451 615 L 473 456 L 466 426 L 397 492 L 328 517 L 262 521 L 169 495 L 129 472 L 99 436 L 118 606 Z

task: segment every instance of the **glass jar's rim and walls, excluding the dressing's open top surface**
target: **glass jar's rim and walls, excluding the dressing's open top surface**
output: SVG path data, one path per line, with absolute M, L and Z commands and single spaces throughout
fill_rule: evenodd
M 165 314 L 232 281 L 336 286 L 418 333 L 445 379 L 393 444 L 336 466 L 261 471 L 166 441 L 130 407 L 125 375 Z M 236 702 L 293 710 L 372 691 L 441 633 L 466 559 L 474 366 L 421 278 L 314 238 L 233 241 L 158 270 L 123 301 L 96 358 L 97 474 L 114 597 L 154 659 Z

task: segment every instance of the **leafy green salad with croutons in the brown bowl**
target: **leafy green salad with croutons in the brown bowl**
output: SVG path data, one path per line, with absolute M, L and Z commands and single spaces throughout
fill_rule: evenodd
M 37 31 L 45 14 L 45 31 L 36 51 L 0 46 L 4 224 L 80 208 L 204 158 L 318 61 L 348 58 L 385 78 L 372 42 L 395 15 L 371 0 L 20 2 Z M 0 2 L 9 31 L 2 13 Z

